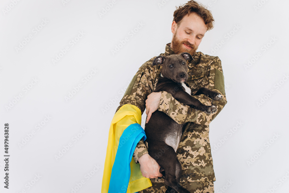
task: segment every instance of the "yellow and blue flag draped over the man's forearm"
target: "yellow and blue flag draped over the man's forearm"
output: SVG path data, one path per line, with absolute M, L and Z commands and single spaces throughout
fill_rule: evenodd
M 132 154 L 145 134 L 138 107 L 125 104 L 110 124 L 101 193 L 134 193 L 150 187 L 151 181 L 142 176 L 139 163 Z

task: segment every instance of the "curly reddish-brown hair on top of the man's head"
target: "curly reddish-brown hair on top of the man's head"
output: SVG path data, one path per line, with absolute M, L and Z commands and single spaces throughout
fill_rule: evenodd
M 175 21 L 178 26 L 181 23 L 181 20 L 184 18 L 184 16 L 186 16 L 187 14 L 190 15 L 190 13 L 195 12 L 201 18 L 203 18 L 207 26 L 207 30 L 213 29 L 214 27 L 213 23 L 215 20 L 212 16 L 212 12 L 210 10 L 207 10 L 201 3 L 198 3 L 196 1 L 188 1 L 188 3 L 179 6 L 179 8 L 178 7 L 176 8 L 177 9 L 174 12 L 173 21 Z

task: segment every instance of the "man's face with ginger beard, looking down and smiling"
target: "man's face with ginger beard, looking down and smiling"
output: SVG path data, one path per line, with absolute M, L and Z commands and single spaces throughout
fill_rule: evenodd
M 173 21 L 171 48 L 175 54 L 188 52 L 193 56 L 206 32 L 207 26 L 204 20 L 196 13 L 190 13 L 184 16 L 179 26 Z

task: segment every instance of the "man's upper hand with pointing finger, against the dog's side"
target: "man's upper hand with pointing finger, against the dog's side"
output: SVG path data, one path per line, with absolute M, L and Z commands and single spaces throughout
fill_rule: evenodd
M 158 110 L 160 98 L 162 96 L 161 92 L 152 92 L 147 96 L 147 100 L 145 101 L 145 107 L 147 109 L 146 114 L 147 114 L 147 122 L 149 122 L 149 119 L 151 118 L 151 114 Z

